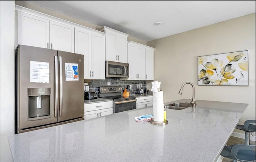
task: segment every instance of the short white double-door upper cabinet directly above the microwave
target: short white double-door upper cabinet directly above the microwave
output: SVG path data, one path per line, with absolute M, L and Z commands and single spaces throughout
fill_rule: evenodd
M 127 63 L 128 34 L 103 26 L 98 29 L 105 32 L 106 60 Z

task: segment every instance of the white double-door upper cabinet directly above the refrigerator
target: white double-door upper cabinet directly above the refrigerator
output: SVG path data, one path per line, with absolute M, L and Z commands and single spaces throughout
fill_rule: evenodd
M 17 45 L 74 52 L 74 27 L 17 11 Z

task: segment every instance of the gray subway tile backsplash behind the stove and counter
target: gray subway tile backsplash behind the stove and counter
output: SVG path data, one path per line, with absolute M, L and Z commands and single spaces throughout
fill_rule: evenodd
M 113 87 L 120 86 L 123 90 L 127 85 L 132 85 L 130 89 L 130 95 L 137 93 L 137 83 L 142 83 L 142 88 L 147 88 L 147 81 L 137 81 L 137 80 L 120 80 L 120 78 L 106 78 L 104 80 L 87 80 L 84 79 L 84 83 L 88 83 L 89 91 L 96 91 L 99 93 L 99 87 Z M 110 85 L 108 85 L 110 83 Z

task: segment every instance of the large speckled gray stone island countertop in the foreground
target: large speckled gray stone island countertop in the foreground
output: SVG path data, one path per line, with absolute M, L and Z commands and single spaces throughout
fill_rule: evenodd
M 196 104 L 196 111 L 165 109 L 164 126 L 136 122 L 134 117 L 153 113 L 153 107 L 145 107 L 8 140 L 14 162 L 215 162 L 248 104 Z

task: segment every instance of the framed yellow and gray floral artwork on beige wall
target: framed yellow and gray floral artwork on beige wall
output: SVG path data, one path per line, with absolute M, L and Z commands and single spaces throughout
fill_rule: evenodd
M 248 86 L 248 50 L 198 56 L 198 85 Z

